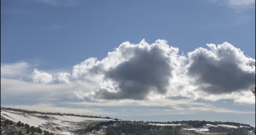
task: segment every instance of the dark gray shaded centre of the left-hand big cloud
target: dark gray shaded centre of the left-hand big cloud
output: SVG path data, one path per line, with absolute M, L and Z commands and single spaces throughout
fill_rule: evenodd
M 119 91 L 115 93 L 100 89 L 95 96 L 104 99 L 143 100 L 150 91 L 164 94 L 171 71 L 172 67 L 161 50 L 153 48 L 148 51 L 137 48 L 133 58 L 105 73 L 105 79 L 118 82 Z

